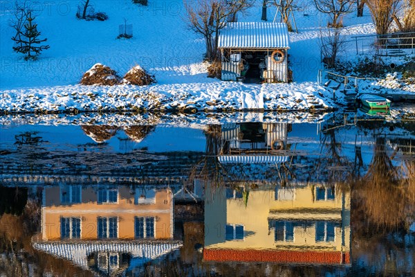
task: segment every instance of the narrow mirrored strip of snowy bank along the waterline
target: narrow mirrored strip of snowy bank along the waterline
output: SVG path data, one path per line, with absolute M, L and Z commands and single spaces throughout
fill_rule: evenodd
M 206 125 L 261 122 L 261 123 L 319 123 L 331 113 L 290 112 L 232 112 L 197 114 L 154 113 L 82 113 L 82 114 L 8 114 L 0 116 L 0 126 L 11 125 L 174 125 L 201 129 Z

